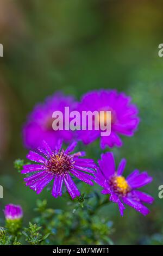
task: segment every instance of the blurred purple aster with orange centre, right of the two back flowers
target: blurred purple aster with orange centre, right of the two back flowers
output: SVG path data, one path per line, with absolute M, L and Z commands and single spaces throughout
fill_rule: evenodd
M 101 130 L 97 131 L 78 131 L 79 139 L 85 144 L 89 144 L 98 137 L 101 137 L 101 148 L 107 145 L 121 147 L 122 141 L 119 134 L 133 136 L 139 124 L 139 118 L 136 116 L 138 109 L 130 103 L 131 98 L 124 93 L 117 93 L 116 90 L 96 90 L 83 96 L 79 103 L 78 111 L 111 111 L 111 134 L 101 136 Z M 105 115 L 100 121 L 105 122 Z

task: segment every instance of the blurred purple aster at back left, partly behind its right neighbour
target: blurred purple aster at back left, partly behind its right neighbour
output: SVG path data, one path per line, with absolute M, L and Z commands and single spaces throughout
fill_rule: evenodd
M 74 133 L 71 130 L 54 131 L 52 113 L 61 111 L 64 115 L 65 107 L 70 107 L 70 111 L 73 111 L 75 106 L 76 102 L 72 96 L 65 96 L 60 92 L 47 97 L 44 103 L 37 104 L 23 126 L 24 145 L 29 149 L 36 149 L 39 147 L 40 141 L 45 139 L 53 148 L 59 138 L 64 139 L 65 142 L 70 142 Z

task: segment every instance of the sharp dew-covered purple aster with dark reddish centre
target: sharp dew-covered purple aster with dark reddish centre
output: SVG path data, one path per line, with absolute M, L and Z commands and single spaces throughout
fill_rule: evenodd
M 62 185 L 66 185 L 67 191 L 74 199 L 80 196 L 80 192 L 72 180 L 71 175 L 75 176 L 79 180 L 86 182 L 89 185 L 93 185 L 93 176 L 96 164 L 92 159 L 80 159 L 80 156 L 84 156 L 84 152 L 78 152 L 70 154 L 76 147 L 77 142 L 72 142 L 69 147 L 62 149 L 62 142 L 59 140 L 58 144 L 52 150 L 49 145 L 43 141 L 42 147 L 38 150 L 41 153 L 35 153 L 29 151 L 27 158 L 36 164 L 27 164 L 23 166 L 21 173 L 30 174 L 24 179 L 26 186 L 29 186 L 32 190 L 39 194 L 45 186 L 54 180 L 52 188 L 52 196 L 57 198 L 62 196 Z

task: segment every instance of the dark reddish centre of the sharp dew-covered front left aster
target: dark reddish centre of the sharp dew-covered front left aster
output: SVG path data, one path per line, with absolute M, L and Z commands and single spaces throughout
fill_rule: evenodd
M 47 171 L 52 174 L 65 175 L 73 168 L 73 157 L 64 150 L 54 153 L 46 163 Z

